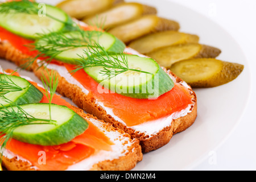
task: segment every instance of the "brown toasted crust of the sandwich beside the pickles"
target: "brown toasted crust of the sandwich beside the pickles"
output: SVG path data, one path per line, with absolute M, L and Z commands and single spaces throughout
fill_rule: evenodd
M 3 48 L 4 47 L 4 48 Z M 7 47 L 7 48 L 6 48 Z M 14 49 L 14 50 L 13 50 Z M 2 51 L 8 50 L 6 53 L 1 53 Z M 15 52 L 15 60 L 13 57 L 9 56 L 8 53 Z M 14 47 L 12 47 L 9 43 L 0 44 L 0 56 L 5 55 L 5 59 L 9 58 L 8 60 L 13 61 L 16 65 L 20 65 L 20 61 L 22 61 L 20 58 L 23 58 L 21 52 L 16 51 Z M 46 69 L 43 67 L 38 68 L 38 65 L 34 63 L 32 65 L 32 71 L 34 71 L 35 75 L 37 77 L 41 77 L 42 74 L 44 76 L 47 76 Z M 165 70 L 169 75 L 172 77 L 175 77 L 175 80 L 177 83 L 182 83 L 183 80 L 178 78 L 174 73 L 172 73 L 170 70 Z M 56 72 L 56 71 L 53 71 Z M 170 139 L 174 134 L 180 133 L 181 131 L 184 131 L 188 129 L 189 126 L 191 126 L 197 117 L 197 98 L 195 92 L 189 87 L 189 91 L 192 96 L 192 101 L 195 103 L 190 108 L 190 113 L 185 115 L 184 117 L 180 117 L 177 119 L 173 119 L 171 122 L 171 125 L 168 127 L 163 128 L 161 131 L 159 131 L 158 134 L 155 134 L 152 137 L 149 137 L 146 134 L 139 133 L 138 131 L 135 131 L 131 128 L 128 128 L 127 126 L 123 125 L 122 123 L 116 121 L 111 115 L 107 114 L 104 108 L 96 104 L 96 99 L 93 97 L 88 97 L 84 92 L 82 92 L 81 88 L 77 85 L 73 85 L 69 83 L 67 80 L 65 80 L 64 77 L 61 77 L 59 73 L 57 73 L 57 76 L 59 77 L 59 86 L 57 88 L 57 92 L 60 93 L 64 97 L 70 98 L 74 104 L 76 104 L 79 108 L 85 110 L 87 113 L 92 114 L 96 116 L 98 119 L 102 119 L 105 122 L 110 123 L 116 128 L 122 129 L 126 133 L 130 134 L 131 138 L 137 138 L 140 141 L 142 152 L 146 153 L 152 150 L 156 150 L 168 142 L 170 142 Z

